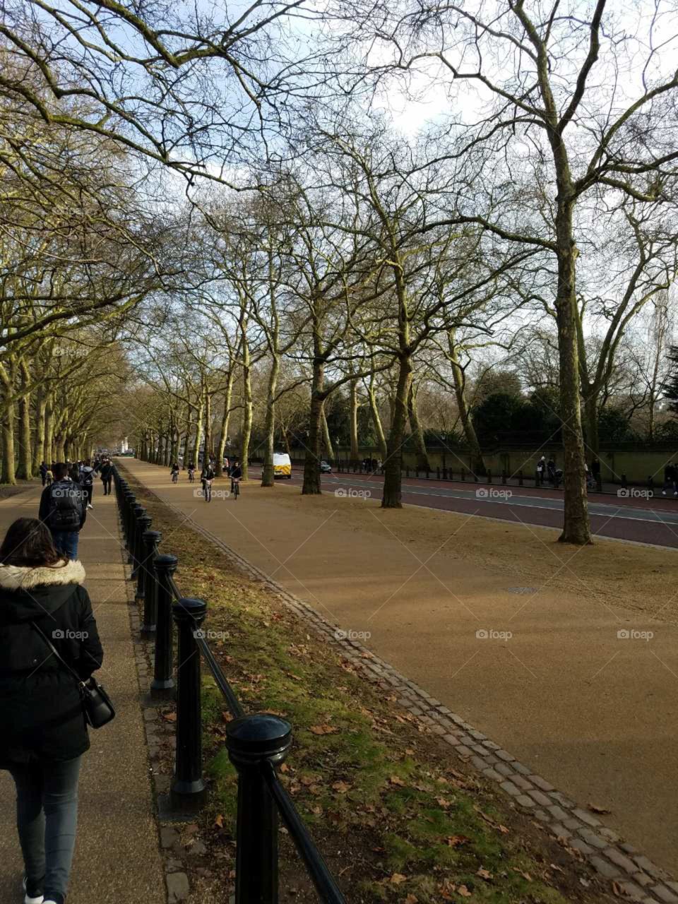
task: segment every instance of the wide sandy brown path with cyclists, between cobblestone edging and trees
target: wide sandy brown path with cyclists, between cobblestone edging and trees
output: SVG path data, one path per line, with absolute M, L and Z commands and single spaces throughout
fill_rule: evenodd
M 571 549 L 544 528 L 281 485 L 207 505 L 185 477 L 174 486 L 165 468 L 124 464 L 678 872 L 673 551 Z

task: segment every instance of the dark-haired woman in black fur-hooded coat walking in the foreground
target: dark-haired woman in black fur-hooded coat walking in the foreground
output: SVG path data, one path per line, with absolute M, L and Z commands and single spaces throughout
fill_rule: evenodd
M 26 904 L 66 897 L 89 749 L 78 685 L 33 623 L 87 680 L 103 651 L 84 579 L 42 522 L 11 525 L 0 546 L 0 768 L 16 785 Z

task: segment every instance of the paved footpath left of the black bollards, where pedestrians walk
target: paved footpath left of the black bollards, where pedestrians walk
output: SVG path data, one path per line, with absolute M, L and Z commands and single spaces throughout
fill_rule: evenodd
M 34 517 L 40 487 L 0 502 L 0 531 L 18 517 Z M 80 826 L 69 904 L 165 904 L 165 875 L 159 852 L 148 778 L 142 722 L 115 497 L 95 486 L 94 510 L 80 534 L 80 560 L 87 572 L 104 646 L 99 680 L 116 705 L 117 716 L 90 731 L 80 779 Z M 0 771 L 0 901 L 23 899 L 21 852 L 14 828 L 14 786 Z

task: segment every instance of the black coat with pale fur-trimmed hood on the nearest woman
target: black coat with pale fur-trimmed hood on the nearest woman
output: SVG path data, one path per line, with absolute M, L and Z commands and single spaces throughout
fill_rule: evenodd
M 54 569 L 0 565 L 0 767 L 73 759 L 89 749 L 75 678 L 31 627 L 34 621 L 89 678 L 103 651 L 84 578 L 79 561 Z

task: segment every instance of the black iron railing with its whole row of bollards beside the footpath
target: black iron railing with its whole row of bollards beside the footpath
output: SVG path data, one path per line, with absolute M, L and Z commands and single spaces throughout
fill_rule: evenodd
M 297 808 L 281 784 L 276 767 L 287 757 L 292 726 L 271 713 L 246 714 L 207 641 L 203 599 L 183 597 L 174 582 L 176 556 L 159 553 L 159 531 L 114 467 L 116 496 L 137 598 L 144 601 L 142 634 L 155 637 L 151 697 L 176 700 L 176 752 L 167 815 L 195 814 L 204 804 L 202 776 L 201 663 L 209 668 L 233 719 L 226 726 L 226 747 L 238 771 L 236 828 L 236 904 L 278 902 L 278 817 L 297 847 L 318 897 L 344 904 Z M 174 666 L 174 625 L 177 651 Z M 202 659 L 201 659 L 202 657 Z

